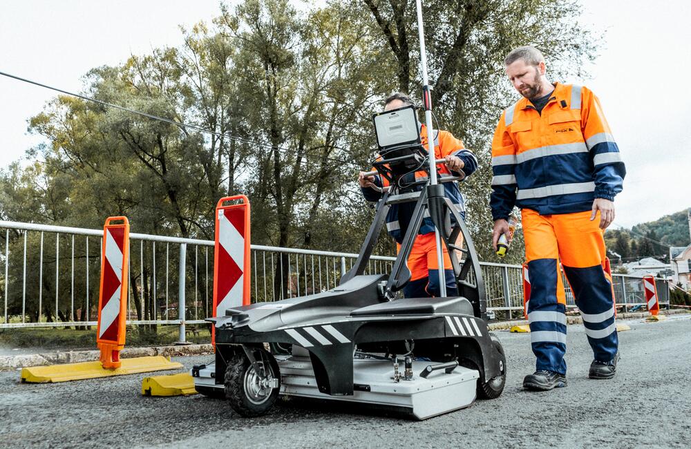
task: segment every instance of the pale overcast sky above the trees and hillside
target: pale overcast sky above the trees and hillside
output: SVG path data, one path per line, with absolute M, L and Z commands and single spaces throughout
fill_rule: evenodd
M 685 0 L 582 0 L 583 26 L 605 32 L 592 79 L 627 165 L 615 223 L 631 227 L 691 206 L 691 17 Z M 64 90 L 91 68 L 178 46 L 179 25 L 218 15 L 218 1 L 0 3 L 0 71 Z M 548 61 L 549 63 L 549 61 Z M 55 93 L 0 77 L 0 166 L 40 142 L 27 120 Z

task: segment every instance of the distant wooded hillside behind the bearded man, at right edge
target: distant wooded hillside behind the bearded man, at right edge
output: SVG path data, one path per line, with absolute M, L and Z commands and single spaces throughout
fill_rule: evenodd
M 605 233 L 607 249 L 621 256 L 624 263 L 644 257 L 668 262 L 669 247 L 685 247 L 689 240 L 688 209 L 632 229 L 612 229 Z M 613 258 L 613 254 L 609 257 Z

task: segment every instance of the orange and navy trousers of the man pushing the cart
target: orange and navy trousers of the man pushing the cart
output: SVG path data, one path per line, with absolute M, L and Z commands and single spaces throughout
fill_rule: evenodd
M 400 251 L 400 249 L 401 245 L 397 245 L 397 250 Z M 442 242 L 442 251 L 446 296 L 457 296 L 453 267 L 444 242 Z M 435 233 L 430 232 L 416 236 L 413 249 L 410 250 L 410 256 L 408 256 L 408 269 L 410 269 L 412 276 L 410 276 L 410 282 L 403 289 L 406 298 L 426 298 L 441 294 Z

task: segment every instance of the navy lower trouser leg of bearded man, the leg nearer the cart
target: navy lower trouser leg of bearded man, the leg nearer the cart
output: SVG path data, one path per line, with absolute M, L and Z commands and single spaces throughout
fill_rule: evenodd
M 528 322 L 536 370 L 566 374 L 566 307 L 557 300 L 560 278 L 557 260 L 531 260 L 528 271 L 531 278 Z

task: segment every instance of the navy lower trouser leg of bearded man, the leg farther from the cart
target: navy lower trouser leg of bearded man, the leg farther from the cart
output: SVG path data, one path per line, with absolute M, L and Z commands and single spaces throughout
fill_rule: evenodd
M 602 265 L 588 268 L 564 267 L 576 305 L 583 316 L 585 334 L 593 348 L 595 360 L 614 359 L 618 347 L 612 285 L 605 277 Z

